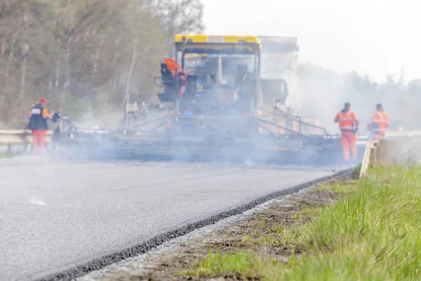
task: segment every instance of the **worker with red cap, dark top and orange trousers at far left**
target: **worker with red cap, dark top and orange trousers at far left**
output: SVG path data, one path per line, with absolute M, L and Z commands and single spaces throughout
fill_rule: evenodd
M 54 112 L 48 114 L 45 105 L 46 100 L 41 98 L 29 112 L 29 124 L 27 129 L 32 130 L 32 153 L 34 155 L 38 152 L 41 154 L 46 152 L 47 120 L 53 117 Z

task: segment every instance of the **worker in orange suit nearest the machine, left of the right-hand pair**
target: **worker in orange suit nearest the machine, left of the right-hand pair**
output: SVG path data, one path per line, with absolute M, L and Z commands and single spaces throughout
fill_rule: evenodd
M 355 112 L 351 110 L 350 103 L 345 103 L 344 109 L 338 112 L 334 122 L 339 122 L 345 162 L 349 162 L 349 147 L 351 147 L 352 159 L 356 162 L 358 160 L 358 155 L 356 153 L 356 131 L 358 131 L 359 122 Z

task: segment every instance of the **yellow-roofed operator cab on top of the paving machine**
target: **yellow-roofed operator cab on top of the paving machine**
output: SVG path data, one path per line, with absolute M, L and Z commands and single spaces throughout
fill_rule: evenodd
M 174 41 L 174 60 L 185 76 L 175 76 L 161 64 L 161 102 L 180 100 L 186 110 L 190 104 L 206 111 L 210 107 L 228 110 L 258 98 L 261 47 L 257 37 L 178 34 Z M 185 92 L 180 95 L 182 86 Z

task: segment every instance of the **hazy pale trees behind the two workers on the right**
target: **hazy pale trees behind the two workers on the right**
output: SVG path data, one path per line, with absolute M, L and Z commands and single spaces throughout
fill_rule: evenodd
M 311 63 L 298 70 L 303 115 L 318 119 L 329 131 L 338 131 L 333 119 L 345 102 L 351 103 L 361 130 L 382 103 L 390 118 L 390 129 L 421 129 L 421 79 L 405 81 L 404 75 L 387 75 L 378 82 L 357 72 L 338 73 Z

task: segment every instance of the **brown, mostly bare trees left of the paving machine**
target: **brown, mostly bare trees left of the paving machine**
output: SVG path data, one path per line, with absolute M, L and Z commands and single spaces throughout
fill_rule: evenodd
M 203 31 L 200 0 L 0 0 L 0 125 L 40 97 L 77 116 L 154 98 L 173 35 Z

